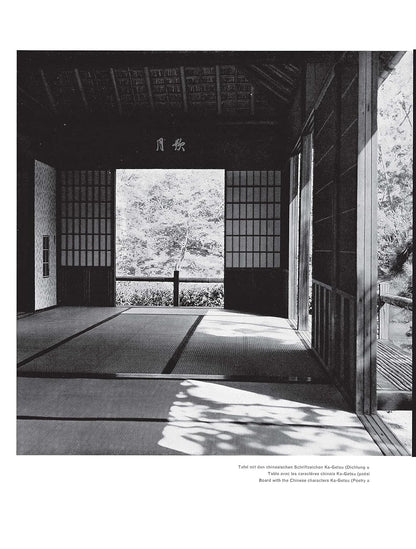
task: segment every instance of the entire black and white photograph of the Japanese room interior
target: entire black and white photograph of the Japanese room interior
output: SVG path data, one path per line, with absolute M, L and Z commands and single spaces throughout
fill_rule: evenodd
M 17 452 L 411 454 L 411 51 L 18 51 Z

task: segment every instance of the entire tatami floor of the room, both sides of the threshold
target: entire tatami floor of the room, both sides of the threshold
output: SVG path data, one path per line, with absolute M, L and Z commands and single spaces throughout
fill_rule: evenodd
M 46 312 L 21 330 L 19 454 L 380 454 L 284 319 L 92 309 L 76 336 L 88 315 L 58 311 L 61 345 Z

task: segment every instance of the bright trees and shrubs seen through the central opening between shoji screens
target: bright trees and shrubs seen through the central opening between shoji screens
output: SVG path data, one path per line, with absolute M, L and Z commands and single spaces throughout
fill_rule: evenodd
M 117 170 L 117 277 L 222 278 L 223 170 Z M 181 283 L 179 304 L 222 307 L 222 283 Z M 119 305 L 172 305 L 172 282 L 118 281 Z

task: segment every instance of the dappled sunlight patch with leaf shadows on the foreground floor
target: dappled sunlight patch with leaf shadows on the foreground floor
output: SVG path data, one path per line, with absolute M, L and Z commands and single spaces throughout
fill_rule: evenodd
M 290 392 L 285 398 L 281 386 L 270 395 L 183 381 L 158 444 L 186 455 L 380 454 L 353 413 Z

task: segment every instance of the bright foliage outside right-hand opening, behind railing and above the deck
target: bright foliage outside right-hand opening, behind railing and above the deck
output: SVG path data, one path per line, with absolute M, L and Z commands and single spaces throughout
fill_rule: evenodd
M 407 52 L 378 95 L 378 263 L 380 294 L 412 299 L 413 59 Z M 379 336 L 411 352 L 412 311 L 382 305 Z M 401 305 L 405 305 L 403 300 Z

